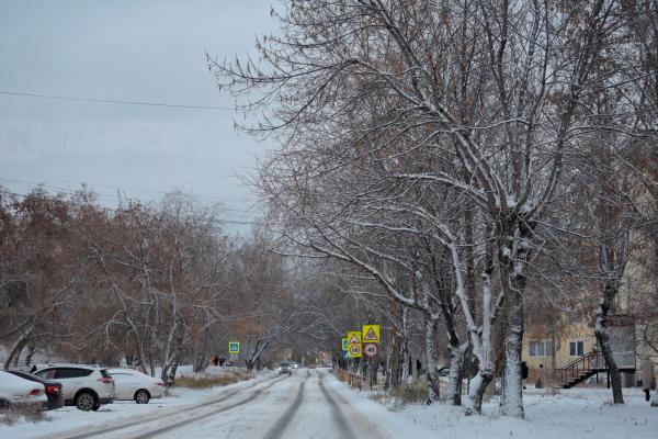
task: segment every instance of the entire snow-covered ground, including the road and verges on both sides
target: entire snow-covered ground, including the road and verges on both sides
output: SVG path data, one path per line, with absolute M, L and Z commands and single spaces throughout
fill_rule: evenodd
M 658 409 L 637 390 L 612 406 L 605 390 L 547 395 L 529 390 L 527 419 L 499 418 L 496 403 L 485 416 L 458 407 L 409 405 L 392 412 L 340 383 L 328 370 L 275 373 L 206 391 L 177 390 L 148 405 L 116 403 L 98 413 L 68 407 L 50 421 L 0 426 L 0 438 L 655 438 Z

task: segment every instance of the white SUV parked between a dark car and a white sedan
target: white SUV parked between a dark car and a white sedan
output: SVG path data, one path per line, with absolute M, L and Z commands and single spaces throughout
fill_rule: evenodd
M 35 373 L 46 380 L 61 383 L 66 405 L 75 405 L 81 410 L 98 410 L 103 404 L 112 404 L 115 398 L 114 380 L 106 369 L 94 365 L 50 365 Z

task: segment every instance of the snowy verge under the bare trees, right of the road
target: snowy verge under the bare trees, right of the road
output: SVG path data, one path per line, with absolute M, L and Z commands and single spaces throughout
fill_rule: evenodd
M 345 389 L 345 384 L 339 384 Z M 351 390 L 349 390 L 351 391 Z M 354 392 L 359 394 L 359 392 Z M 362 392 L 361 399 L 368 393 Z M 656 438 L 658 408 L 645 402 L 644 392 L 624 389 L 625 404 L 613 406 L 605 389 L 524 391 L 525 420 L 499 417 L 498 401 L 484 406 L 483 416 L 464 416 L 460 407 L 407 405 L 396 410 L 401 418 L 435 431 L 434 438 Z M 362 403 L 367 406 L 367 403 Z M 355 406 L 355 403 L 352 403 Z M 389 404 L 393 405 L 393 404 Z M 361 408 L 361 404 L 359 405 Z

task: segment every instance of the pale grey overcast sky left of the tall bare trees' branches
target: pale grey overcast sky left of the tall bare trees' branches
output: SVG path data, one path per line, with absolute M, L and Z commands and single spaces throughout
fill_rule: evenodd
M 232 111 L 1 92 L 230 108 L 205 52 L 247 54 L 275 26 L 264 0 L 1 0 L 0 184 L 26 193 L 86 182 L 106 206 L 117 189 L 145 201 L 178 189 L 249 219 L 249 190 L 235 176 L 266 145 L 238 135 Z

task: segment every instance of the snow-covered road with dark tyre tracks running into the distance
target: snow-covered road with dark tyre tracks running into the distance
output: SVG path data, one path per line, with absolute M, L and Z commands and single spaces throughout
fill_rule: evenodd
M 127 438 L 393 438 L 372 417 L 348 402 L 349 394 L 324 370 L 299 369 L 218 392 L 196 404 L 181 404 L 139 416 L 49 434 L 58 439 Z M 349 391 L 347 391 L 349 392 Z M 378 412 L 378 410 L 377 410 Z M 395 428 L 394 425 L 394 429 Z

